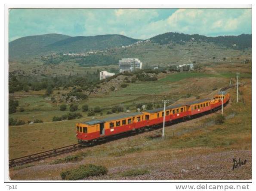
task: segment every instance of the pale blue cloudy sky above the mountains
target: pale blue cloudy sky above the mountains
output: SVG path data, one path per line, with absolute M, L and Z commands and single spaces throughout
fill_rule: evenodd
M 251 9 L 10 9 L 9 41 L 46 33 L 122 34 L 135 39 L 167 32 L 251 34 L 251 16 Z

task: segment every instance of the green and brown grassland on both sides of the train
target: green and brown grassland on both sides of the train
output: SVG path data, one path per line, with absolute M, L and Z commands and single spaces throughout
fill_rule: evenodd
M 237 70 L 233 65 L 229 71 L 223 67 L 208 66 L 206 72 L 164 74 L 154 82 L 129 83 L 126 88 L 115 92 L 89 96 L 88 100 L 79 101 L 81 119 L 52 122 L 53 116 L 61 116 L 67 111 L 60 111 L 58 103 L 52 103 L 49 97 L 43 98 L 44 91 L 18 92 L 12 96 L 19 101 L 19 107 L 24 112 L 10 115 L 15 119 L 25 121 L 42 119 L 43 123 L 32 125 L 9 126 L 9 158 L 33 154 L 72 143 L 77 143 L 74 124 L 91 120 L 86 112 L 81 111 L 82 104 L 89 107 L 102 107 L 103 115 L 94 116 L 100 119 L 113 105 L 123 105 L 135 111 L 136 103 L 154 102 L 159 104 L 163 97 L 173 102 L 186 102 L 200 98 L 212 98 L 213 87 L 217 89 L 227 86 L 230 78 L 235 78 Z M 251 178 L 251 73 L 244 65 L 241 72 L 240 101 L 235 103 L 235 89 L 229 90 L 231 102 L 225 107 L 225 123 L 211 123 L 218 113 L 213 113 L 191 121 L 172 125 L 166 129 L 166 140 L 149 139 L 159 130 L 146 132 L 132 137 L 126 137 L 113 142 L 86 148 L 83 160 L 67 164 L 52 164 L 50 158 L 28 166 L 10 170 L 12 179 L 60 179 L 63 170 L 77 167 L 79 164 L 93 163 L 104 165 L 109 173 L 99 179 L 250 179 Z M 234 81 L 233 81 L 234 83 Z M 62 91 L 58 90 L 60 94 Z M 184 95 L 188 95 L 185 96 Z M 53 92 L 58 96 L 57 90 Z M 77 152 L 77 154 L 81 154 Z M 188 154 L 189 153 L 189 154 Z M 72 153 L 71 155 L 75 155 Z M 81 154 L 82 155 L 82 154 Z M 243 168 L 231 170 L 232 157 L 248 159 Z M 114 161 L 114 162 L 113 162 Z M 198 170 L 197 166 L 200 168 Z M 138 176 L 123 176 L 134 168 L 149 173 Z M 185 170 L 182 170 L 185 169 Z M 92 179 L 97 179 L 96 177 Z

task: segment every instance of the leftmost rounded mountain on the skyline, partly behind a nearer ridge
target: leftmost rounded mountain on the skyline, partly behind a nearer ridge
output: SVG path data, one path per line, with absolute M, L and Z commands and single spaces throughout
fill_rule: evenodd
M 69 37 L 62 34 L 44 34 L 16 39 L 9 42 L 9 58 L 26 57 L 35 54 L 40 52 L 42 47 Z

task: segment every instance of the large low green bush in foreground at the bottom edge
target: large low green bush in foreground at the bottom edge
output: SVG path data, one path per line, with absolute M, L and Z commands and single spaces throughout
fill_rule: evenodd
M 63 180 L 80 180 L 89 176 L 106 174 L 108 169 L 94 164 L 80 165 L 78 168 L 64 171 L 60 174 Z

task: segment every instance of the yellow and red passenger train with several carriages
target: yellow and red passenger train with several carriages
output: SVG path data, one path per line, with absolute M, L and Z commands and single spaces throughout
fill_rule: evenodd
M 223 94 L 223 104 L 227 104 L 229 93 Z M 200 99 L 190 103 L 166 107 L 165 122 L 170 123 L 179 119 L 190 118 L 217 110 L 222 105 L 222 95 L 219 93 L 210 99 Z M 98 140 L 104 140 L 115 135 L 132 131 L 142 132 L 151 130 L 163 123 L 163 107 L 143 112 L 125 113 L 123 115 L 95 119 L 76 124 L 79 143 L 93 145 Z

